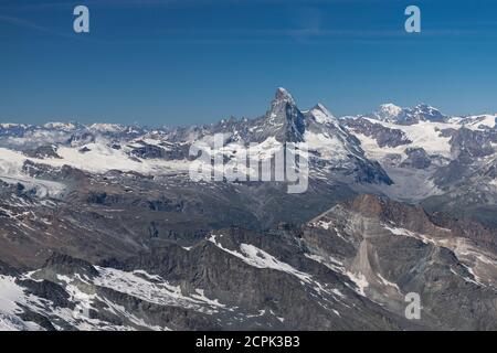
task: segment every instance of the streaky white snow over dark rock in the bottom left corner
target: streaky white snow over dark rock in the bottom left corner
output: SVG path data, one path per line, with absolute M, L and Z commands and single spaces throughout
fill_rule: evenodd
M 108 298 L 96 295 L 92 286 L 101 286 L 128 293 L 141 300 L 161 306 L 175 306 L 212 314 L 220 310 L 232 311 L 219 300 L 209 298 L 202 289 L 194 289 L 191 295 L 183 295 L 179 286 L 172 286 L 160 276 L 150 275 L 145 270 L 126 272 L 113 268 L 96 267 L 101 274 L 94 279 L 82 278 L 80 275 L 57 275 L 56 279 L 70 293 L 70 300 L 76 306 L 75 310 L 70 308 L 55 308 L 42 298 L 24 292 L 23 288 L 15 284 L 15 279 L 0 275 L 0 331 L 3 330 L 41 330 L 38 324 L 25 322 L 19 318 L 22 312 L 20 304 L 28 307 L 34 312 L 50 314 L 64 320 L 78 330 L 136 330 L 146 328 L 150 330 L 168 330 L 168 328 L 150 325 L 137 314 L 133 314 L 126 308 L 112 302 Z M 22 278 L 36 280 L 36 272 L 31 271 L 22 275 Z M 113 325 L 97 319 L 91 319 L 85 310 L 94 308 L 96 301 L 107 304 L 109 310 L 129 320 L 130 325 Z M 80 309 L 82 311 L 80 311 Z M 57 329 L 56 320 L 52 323 Z

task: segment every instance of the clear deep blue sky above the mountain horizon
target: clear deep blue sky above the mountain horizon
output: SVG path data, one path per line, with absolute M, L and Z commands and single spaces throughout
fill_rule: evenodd
M 73 32 L 85 4 L 91 32 Z M 404 31 L 404 9 L 422 33 Z M 0 2 L 0 121 L 159 126 L 265 113 L 276 87 L 335 115 L 381 103 L 497 113 L 497 1 Z

